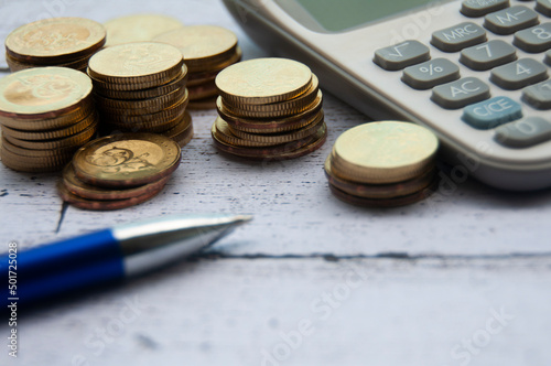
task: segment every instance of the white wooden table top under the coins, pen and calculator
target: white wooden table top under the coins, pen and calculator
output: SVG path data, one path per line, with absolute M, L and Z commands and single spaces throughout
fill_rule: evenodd
M 0 0 L 0 25 L 134 12 L 219 24 L 246 58 L 267 55 L 216 0 Z M 1 165 L 2 250 L 159 215 L 255 220 L 196 261 L 26 314 L 17 359 L 0 320 L 0 365 L 550 365 L 551 192 L 469 180 L 403 208 L 349 206 L 323 162 L 367 118 L 329 95 L 324 106 L 326 144 L 269 164 L 217 152 L 216 112 L 194 111 L 195 138 L 164 192 L 117 212 L 63 213 L 57 174 Z

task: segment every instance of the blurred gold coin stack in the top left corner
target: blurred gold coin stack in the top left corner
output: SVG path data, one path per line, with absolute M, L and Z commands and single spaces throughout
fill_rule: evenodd
M 84 18 L 51 18 L 22 25 L 6 39 L 10 69 L 63 66 L 86 71 L 106 42 L 104 25 Z

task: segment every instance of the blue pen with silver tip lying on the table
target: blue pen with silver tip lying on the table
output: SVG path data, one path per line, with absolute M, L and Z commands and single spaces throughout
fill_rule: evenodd
M 1 308 L 34 304 L 165 266 L 205 248 L 246 215 L 169 216 L 117 226 L 0 257 Z M 11 260 L 11 261 L 10 261 Z M 15 266 L 13 266 L 15 265 Z

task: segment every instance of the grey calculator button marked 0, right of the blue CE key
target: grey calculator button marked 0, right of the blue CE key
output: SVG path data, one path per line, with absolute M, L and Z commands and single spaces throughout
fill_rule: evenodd
M 529 148 L 551 139 L 551 122 L 530 117 L 496 129 L 496 140 L 510 148 Z

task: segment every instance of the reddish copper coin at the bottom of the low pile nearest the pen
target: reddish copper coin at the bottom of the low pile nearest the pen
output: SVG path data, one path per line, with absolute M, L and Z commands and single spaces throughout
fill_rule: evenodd
M 131 198 L 100 201 L 79 197 L 76 194 L 71 193 L 62 182 L 57 183 L 57 192 L 60 193 L 60 196 L 64 202 L 67 202 L 68 204 L 77 208 L 91 211 L 114 211 L 136 206 L 140 203 L 153 198 L 163 190 L 163 187 L 164 184 L 156 191 L 151 191 Z

